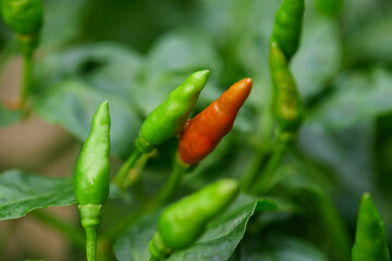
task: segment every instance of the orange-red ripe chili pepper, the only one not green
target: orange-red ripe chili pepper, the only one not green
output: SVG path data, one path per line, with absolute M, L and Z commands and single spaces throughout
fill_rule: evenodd
M 244 78 L 188 121 L 179 142 L 179 154 L 184 163 L 195 164 L 216 148 L 232 129 L 237 112 L 250 90 L 252 79 Z

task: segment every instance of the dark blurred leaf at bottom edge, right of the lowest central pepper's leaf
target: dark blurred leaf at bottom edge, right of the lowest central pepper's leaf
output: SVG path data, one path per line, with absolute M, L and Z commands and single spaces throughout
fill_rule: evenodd
M 250 245 L 250 246 L 249 246 Z M 309 243 L 291 237 L 272 237 L 257 245 L 244 245 L 243 261 L 327 261 L 327 257 Z

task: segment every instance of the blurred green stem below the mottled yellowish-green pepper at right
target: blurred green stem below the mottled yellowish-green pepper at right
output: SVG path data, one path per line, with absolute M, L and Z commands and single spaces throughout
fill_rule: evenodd
M 271 179 L 273 178 L 273 173 L 281 163 L 285 151 L 286 145 L 284 142 L 278 142 L 272 157 L 267 163 L 266 169 L 261 175 L 256 178 L 254 185 L 250 187 L 252 192 L 267 194 L 269 189 L 271 189 Z

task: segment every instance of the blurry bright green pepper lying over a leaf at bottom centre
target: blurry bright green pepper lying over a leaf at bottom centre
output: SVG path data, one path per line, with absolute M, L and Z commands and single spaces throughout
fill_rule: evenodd
M 191 246 L 206 225 L 221 213 L 238 194 L 234 179 L 221 179 L 167 208 L 148 247 L 150 260 L 162 260 L 172 251 Z

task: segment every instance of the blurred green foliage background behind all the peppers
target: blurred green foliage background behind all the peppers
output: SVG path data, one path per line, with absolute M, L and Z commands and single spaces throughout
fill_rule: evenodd
M 195 112 L 243 77 L 254 79 L 254 89 L 233 132 L 185 181 L 183 192 L 245 172 L 255 147 L 265 141 L 269 37 L 280 1 L 44 3 L 33 115 L 27 121 L 20 122 L 20 113 L 5 108 L 17 94 L 20 57 L 14 35 L 0 22 L 1 170 L 72 176 L 90 117 L 98 102 L 109 99 L 114 172 L 128 156 L 143 119 L 187 75 L 209 69 L 211 76 Z M 271 191 L 301 206 L 302 214 L 255 221 L 249 231 L 261 229 L 266 236 L 258 240 L 267 247 L 254 246 L 249 233 L 241 260 L 272 260 L 269 253 L 278 260 L 305 260 L 314 249 L 329 260 L 346 260 L 365 191 L 371 192 L 392 244 L 391 28 L 388 0 L 306 1 L 302 42 L 291 67 L 307 115 L 296 148 L 277 171 L 280 185 Z M 170 140 L 150 162 L 143 177 L 148 191 L 164 179 L 160 174 L 169 171 L 174 150 L 175 140 Z M 77 224 L 75 213 L 70 216 Z M 11 240 L 12 225 L 3 225 L 10 234 L 2 241 Z M 66 244 L 56 256 L 45 247 L 28 247 L 23 235 L 14 237 L 13 247 L 3 249 L 4 260 L 75 257 L 68 253 Z M 282 249 L 286 252 L 280 253 Z

